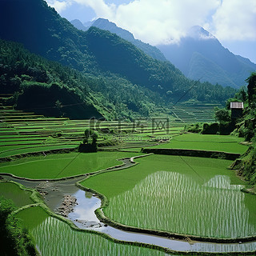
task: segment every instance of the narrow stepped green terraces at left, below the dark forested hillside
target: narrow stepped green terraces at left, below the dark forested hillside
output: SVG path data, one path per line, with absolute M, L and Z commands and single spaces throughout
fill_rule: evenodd
M 118 138 L 122 141 L 118 148 L 149 146 L 150 141 L 157 136 L 168 134 L 169 138 L 179 134 L 183 129 L 177 125 L 166 130 L 162 127 L 153 129 L 150 121 L 108 122 L 45 118 L 13 110 L 11 107 L 0 108 L 0 120 L 0 158 L 76 148 L 82 142 L 84 131 L 89 127 L 98 131 L 98 142 L 102 142 L 108 136 Z

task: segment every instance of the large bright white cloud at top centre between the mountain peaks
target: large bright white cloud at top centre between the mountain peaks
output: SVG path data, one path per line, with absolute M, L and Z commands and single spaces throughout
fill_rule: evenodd
M 177 42 L 190 26 L 203 25 L 221 0 L 134 0 L 108 5 L 103 0 L 74 0 L 94 9 L 97 18 L 108 18 L 130 30 L 135 38 L 153 45 Z

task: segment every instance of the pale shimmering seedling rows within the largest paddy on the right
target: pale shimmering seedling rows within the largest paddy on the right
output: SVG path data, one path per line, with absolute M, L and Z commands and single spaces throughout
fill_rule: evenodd
M 237 238 L 256 234 L 241 186 L 217 175 L 205 184 L 175 172 L 150 174 L 110 199 L 106 214 L 127 225 L 179 234 Z M 252 198 L 252 202 L 256 199 Z

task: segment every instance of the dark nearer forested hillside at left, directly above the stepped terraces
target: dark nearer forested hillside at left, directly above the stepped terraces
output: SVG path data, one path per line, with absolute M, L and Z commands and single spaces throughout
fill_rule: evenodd
M 161 101 L 117 75 L 82 74 L 15 42 L 0 40 L 0 54 L 0 93 L 14 94 L 20 109 L 70 118 L 133 118 L 154 112 Z

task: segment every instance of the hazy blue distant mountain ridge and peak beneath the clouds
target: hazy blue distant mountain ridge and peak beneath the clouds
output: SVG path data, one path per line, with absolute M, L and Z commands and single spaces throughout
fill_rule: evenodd
M 163 61 L 169 60 L 187 78 L 194 80 L 201 79 L 204 82 L 239 88 L 246 84 L 246 78 L 252 71 L 256 70 L 256 64 L 250 62 L 248 58 L 231 53 L 202 26 L 192 26 L 187 31 L 186 37 L 181 38 L 178 44 L 154 47 L 135 39 L 128 30 L 123 30 L 114 22 L 104 18 L 98 18 L 96 21 L 85 24 L 78 23 L 77 20 L 71 23 L 78 29 L 85 31 L 90 26 L 96 26 L 102 30 L 109 30 L 118 34 L 151 57 Z

